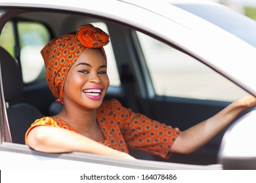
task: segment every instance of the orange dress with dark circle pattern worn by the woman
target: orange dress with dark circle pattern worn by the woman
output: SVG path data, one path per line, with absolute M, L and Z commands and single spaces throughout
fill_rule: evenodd
M 100 143 L 126 153 L 129 153 L 129 149 L 133 149 L 169 158 L 171 146 L 180 133 L 177 128 L 161 124 L 129 108 L 122 107 L 116 99 L 102 103 L 102 106 L 97 109 L 96 118 L 105 137 L 105 141 Z M 35 120 L 26 132 L 25 139 L 28 133 L 39 125 L 63 127 L 75 131 L 59 118 L 44 117 Z

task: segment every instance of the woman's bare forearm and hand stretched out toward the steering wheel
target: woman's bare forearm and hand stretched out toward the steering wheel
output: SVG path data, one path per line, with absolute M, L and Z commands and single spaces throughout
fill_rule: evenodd
M 229 125 L 242 111 L 256 106 L 256 97 L 249 95 L 234 101 L 215 116 L 182 131 L 171 152 L 190 154 L 209 142 Z

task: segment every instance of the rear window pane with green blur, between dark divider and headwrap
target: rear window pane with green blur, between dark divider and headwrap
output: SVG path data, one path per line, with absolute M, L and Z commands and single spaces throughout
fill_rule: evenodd
M 45 77 L 44 62 L 40 51 L 49 42 L 49 30 L 45 25 L 35 22 L 18 22 L 17 28 L 24 83 Z

